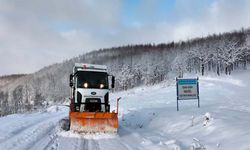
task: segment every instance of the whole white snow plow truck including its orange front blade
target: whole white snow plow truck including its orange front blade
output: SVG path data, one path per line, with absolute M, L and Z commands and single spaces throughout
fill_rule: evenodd
M 70 130 L 85 133 L 117 132 L 118 113 L 110 112 L 109 104 L 109 91 L 114 88 L 114 84 L 115 77 L 107 73 L 106 66 L 75 64 L 69 82 Z

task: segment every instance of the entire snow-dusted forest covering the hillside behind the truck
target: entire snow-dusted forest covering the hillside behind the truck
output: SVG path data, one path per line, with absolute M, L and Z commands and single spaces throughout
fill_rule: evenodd
M 103 64 L 116 77 L 114 91 L 172 80 L 185 73 L 230 75 L 250 63 L 250 30 L 188 41 L 140 44 L 92 51 L 28 75 L 0 78 L 0 116 L 31 111 L 69 97 L 74 63 Z

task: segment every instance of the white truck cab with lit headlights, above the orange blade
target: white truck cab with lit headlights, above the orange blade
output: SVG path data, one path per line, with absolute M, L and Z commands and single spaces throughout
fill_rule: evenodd
M 76 63 L 70 75 L 71 110 L 109 112 L 109 91 L 114 83 L 115 78 L 108 75 L 106 66 Z

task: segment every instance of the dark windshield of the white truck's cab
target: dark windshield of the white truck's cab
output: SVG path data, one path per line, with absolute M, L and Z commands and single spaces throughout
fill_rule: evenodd
M 78 88 L 108 89 L 106 72 L 80 71 L 76 73 Z

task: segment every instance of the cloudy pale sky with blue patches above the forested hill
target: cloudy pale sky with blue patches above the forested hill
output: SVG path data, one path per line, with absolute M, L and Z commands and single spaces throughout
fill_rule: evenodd
M 249 0 L 0 0 L 0 75 L 112 46 L 250 27 Z

